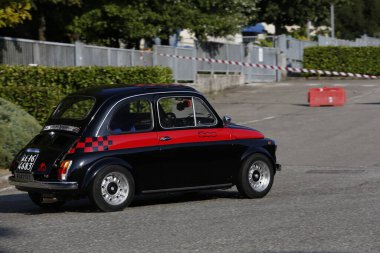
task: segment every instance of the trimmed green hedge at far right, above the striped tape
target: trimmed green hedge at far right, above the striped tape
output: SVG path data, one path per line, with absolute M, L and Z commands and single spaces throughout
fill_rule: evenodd
M 380 47 L 308 47 L 303 67 L 380 75 Z

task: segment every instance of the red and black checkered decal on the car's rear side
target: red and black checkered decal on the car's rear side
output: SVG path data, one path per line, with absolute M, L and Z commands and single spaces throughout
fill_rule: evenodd
M 107 136 L 81 138 L 75 146 L 70 149 L 69 153 L 74 154 L 107 151 L 112 144 L 113 141 Z

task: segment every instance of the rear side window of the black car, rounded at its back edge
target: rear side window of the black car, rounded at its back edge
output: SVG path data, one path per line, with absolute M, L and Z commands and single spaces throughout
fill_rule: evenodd
M 114 134 L 148 131 L 152 128 L 152 106 L 146 99 L 123 104 L 115 111 L 109 124 Z

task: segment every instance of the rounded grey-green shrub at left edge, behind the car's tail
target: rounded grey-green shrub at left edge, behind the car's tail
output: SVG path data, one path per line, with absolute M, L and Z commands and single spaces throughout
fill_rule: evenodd
M 0 167 L 9 166 L 17 152 L 40 130 L 35 118 L 0 98 Z

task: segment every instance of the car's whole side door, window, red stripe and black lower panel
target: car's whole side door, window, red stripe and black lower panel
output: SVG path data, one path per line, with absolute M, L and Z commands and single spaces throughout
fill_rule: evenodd
M 230 130 L 203 98 L 156 98 L 162 188 L 229 184 L 233 158 Z

